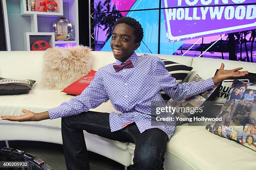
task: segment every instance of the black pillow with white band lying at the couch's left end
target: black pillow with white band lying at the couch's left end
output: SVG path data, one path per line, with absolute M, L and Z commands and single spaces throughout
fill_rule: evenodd
M 35 80 L 0 77 L 0 95 L 17 95 L 28 93 Z

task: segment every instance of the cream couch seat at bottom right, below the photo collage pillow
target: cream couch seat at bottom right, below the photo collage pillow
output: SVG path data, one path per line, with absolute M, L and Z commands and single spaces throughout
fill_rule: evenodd
M 167 143 L 166 154 L 195 170 L 256 169 L 253 150 L 209 133 L 205 126 L 177 126 Z

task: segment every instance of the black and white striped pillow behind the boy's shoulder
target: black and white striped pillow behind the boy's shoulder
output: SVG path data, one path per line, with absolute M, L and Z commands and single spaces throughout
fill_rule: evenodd
M 193 67 L 189 67 L 187 65 L 182 65 L 177 62 L 164 60 L 162 59 L 166 70 L 176 79 L 176 82 L 181 83 L 189 74 L 189 72 L 193 69 Z M 169 100 L 170 97 L 166 95 L 164 91 L 161 91 L 161 96 L 164 100 Z

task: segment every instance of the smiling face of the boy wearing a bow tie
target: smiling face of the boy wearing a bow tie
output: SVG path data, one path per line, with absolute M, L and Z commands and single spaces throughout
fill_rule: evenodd
M 115 59 L 124 62 L 140 46 L 140 42 L 135 43 L 134 29 L 127 24 L 115 26 L 110 42 Z

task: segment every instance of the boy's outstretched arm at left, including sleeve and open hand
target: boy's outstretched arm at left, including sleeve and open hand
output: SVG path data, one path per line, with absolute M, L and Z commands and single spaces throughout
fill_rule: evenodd
M 99 106 L 102 102 L 107 101 L 108 94 L 104 89 L 100 77 L 100 72 L 95 74 L 90 86 L 88 86 L 81 95 L 74 97 L 69 102 L 63 102 L 59 107 L 49 109 L 46 112 L 34 113 L 29 110 L 23 109 L 23 115 L 8 116 L 1 115 L 2 120 L 10 121 L 40 121 L 45 119 L 55 119 L 58 117 L 66 117 L 77 115 L 81 112 L 87 112 L 91 108 Z

